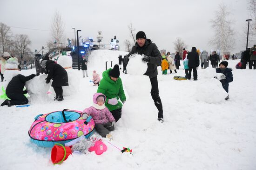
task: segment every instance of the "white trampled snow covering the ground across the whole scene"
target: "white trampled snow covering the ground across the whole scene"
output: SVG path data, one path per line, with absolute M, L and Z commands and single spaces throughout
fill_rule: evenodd
M 129 78 L 131 75 L 121 72 L 128 100 L 122 110 L 123 118 L 117 123 L 118 129 L 112 132 L 114 140 L 111 143 L 119 148 L 129 147 L 133 154 L 121 154 L 105 140 L 108 150 L 100 156 L 94 152 L 73 154 L 63 164 L 53 165 L 51 148 L 35 145 L 28 136 L 34 117 L 65 108 L 82 111 L 91 106 L 97 90 L 89 82 L 93 70 L 101 75 L 105 61 L 108 61 L 108 68 L 111 61 L 114 66 L 120 54 L 123 56 L 127 52 L 93 51 L 88 61 L 89 77 L 82 78 L 81 70 L 75 70 L 80 76 L 80 84 L 77 84 L 76 93 L 64 97 L 64 101 L 53 101 L 53 92 L 46 101 L 34 99 L 29 107 L 0 107 L 0 170 L 256 169 L 256 70 L 235 69 L 238 60 L 228 61 L 234 75 L 234 82 L 229 84 L 229 101 L 223 98 L 225 92 L 221 83 L 213 78 L 216 76 L 214 69 L 198 69 L 198 81 L 176 81 L 174 76 L 185 76 L 183 66 L 177 74 L 171 75 L 169 71 L 168 75 L 162 75 L 158 67 L 164 123 L 156 120 L 157 110 L 152 100 L 148 103 L 143 98 L 141 101 L 129 99 L 126 89 L 148 87 L 149 81 L 134 82 Z M 23 75 L 31 73 L 35 73 L 35 69 L 21 71 Z M 150 93 L 141 96 L 151 99 Z M 127 115 L 129 107 L 142 107 L 144 112 Z M 136 124 L 131 123 L 129 126 L 129 121 L 143 117 L 140 125 L 135 127 Z

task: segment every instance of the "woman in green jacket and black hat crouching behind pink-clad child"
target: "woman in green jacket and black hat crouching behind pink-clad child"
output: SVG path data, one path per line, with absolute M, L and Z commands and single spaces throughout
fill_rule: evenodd
M 108 107 L 116 121 L 121 118 L 122 103 L 126 101 L 122 80 L 119 76 L 119 66 L 115 64 L 113 69 L 108 69 L 102 73 L 103 78 L 97 90 L 97 93 L 102 93 L 107 97 L 105 106 Z M 118 101 L 119 98 L 122 103 Z

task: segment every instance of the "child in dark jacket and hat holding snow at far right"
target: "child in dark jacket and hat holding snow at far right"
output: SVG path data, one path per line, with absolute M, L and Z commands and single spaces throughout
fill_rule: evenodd
M 232 69 L 227 68 L 228 67 L 228 62 L 223 61 L 219 64 L 219 68 L 216 68 L 216 73 L 222 73 L 222 77 L 218 78 L 215 76 L 214 78 L 220 80 L 222 83 L 222 87 L 224 90 L 228 93 L 228 96 L 225 98 L 225 100 L 229 100 L 229 82 L 233 82 L 233 74 L 232 74 Z

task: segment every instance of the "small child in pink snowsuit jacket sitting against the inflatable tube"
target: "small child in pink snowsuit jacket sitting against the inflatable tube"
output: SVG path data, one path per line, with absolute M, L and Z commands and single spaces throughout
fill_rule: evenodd
M 104 94 L 95 93 L 93 96 L 93 106 L 83 110 L 83 119 L 87 119 L 88 115 L 91 115 L 95 122 L 95 130 L 103 138 L 109 136 L 109 132 L 115 129 L 115 118 L 108 108 L 105 107 L 105 101 L 106 96 Z

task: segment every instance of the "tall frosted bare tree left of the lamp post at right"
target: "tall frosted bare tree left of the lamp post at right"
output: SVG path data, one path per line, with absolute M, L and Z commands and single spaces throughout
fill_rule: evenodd
M 224 52 L 228 52 L 234 48 L 235 31 L 232 29 L 233 21 L 229 19 L 229 11 L 227 6 L 222 3 L 219 5 L 219 11 L 215 12 L 215 18 L 211 19 L 211 27 L 215 35 L 209 41 L 209 44 L 214 45 L 217 49 L 222 50 L 222 60 L 224 59 Z

